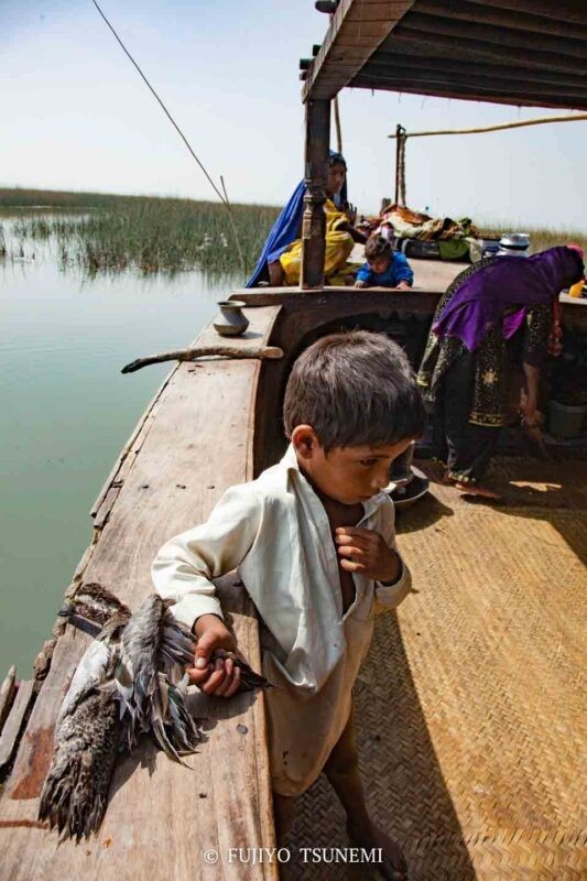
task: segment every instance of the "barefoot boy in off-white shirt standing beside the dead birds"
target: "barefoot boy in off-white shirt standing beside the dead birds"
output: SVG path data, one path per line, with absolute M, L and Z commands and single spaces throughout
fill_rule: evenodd
M 401 848 L 371 823 L 352 736 L 351 689 L 373 627 L 410 590 L 381 490 L 393 459 L 422 434 L 425 411 L 407 358 L 388 337 L 323 337 L 294 363 L 284 401 L 290 447 L 257 480 L 229 489 L 200 526 L 157 554 L 153 580 L 198 637 L 193 683 L 230 697 L 240 672 L 210 583 L 239 567 L 261 616 L 269 751 L 280 839 L 293 796 L 324 770 L 355 844 L 381 848 L 385 878 L 405 878 Z

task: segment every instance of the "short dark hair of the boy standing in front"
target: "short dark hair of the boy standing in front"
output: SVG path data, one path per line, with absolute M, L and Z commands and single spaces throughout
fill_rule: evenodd
M 351 330 L 316 340 L 295 361 L 283 402 L 285 434 L 312 425 L 326 452 L 423 434 L 426 412 L 403 349 Z

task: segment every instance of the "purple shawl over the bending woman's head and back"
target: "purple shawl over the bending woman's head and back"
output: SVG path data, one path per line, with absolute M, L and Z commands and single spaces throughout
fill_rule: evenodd
M 503 319 L 503 336 L 509 338 L 522 324 L 526 307 L 552 303 L 584 272 L 578 251 L 566 246 L 533 257 L 496 257 L 457 287 L 433 330 L 439 339 L 459 337 L 475 351 L 506 309 L 519 307 Z

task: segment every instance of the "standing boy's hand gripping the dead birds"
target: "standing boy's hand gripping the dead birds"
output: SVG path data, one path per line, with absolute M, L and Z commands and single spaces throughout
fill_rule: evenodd
M 235 640 L 225 623 L 216 614 L 203 614 L 196 621 L 198 638 L 195 665 L 187 670 L 189 682 L 200 692 L 215 697 L 232 697 L 240 685 L 240 670 L 231 657 L 211 661 L 216 649 L 235 651 Z

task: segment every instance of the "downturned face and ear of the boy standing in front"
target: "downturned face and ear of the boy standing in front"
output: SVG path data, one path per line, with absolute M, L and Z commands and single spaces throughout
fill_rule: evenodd
M 298 425 L 292 433 L 297 461 L 324 496 L 343 504 L 358 504 L 377 496 L 390 481 L 393 459 L 405 453 L 414 438 L 383 446 L 334 447 L 324 452 L 314 429 Z

